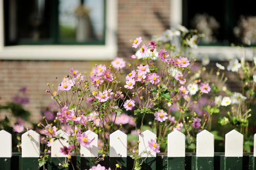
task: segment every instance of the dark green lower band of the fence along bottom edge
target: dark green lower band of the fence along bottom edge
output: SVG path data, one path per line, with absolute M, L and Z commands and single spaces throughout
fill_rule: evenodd
M 41 153 L 43 154 L 43 153 Z M 21 157 L 21 153 L 13 153 L 11 158 L 0 158 L 0 170 L 43 170 L 39 168 L 39 158 Z M 74 166 L 79 161 L 80 170 L 89 170 L 93 166 L 91 159 L 87 157 L 72 156 Z M 73 170 L 73 167 L 64 168 L 59 166 L 64 157 L 51 157 L 45 164 L 47 170 Z M 157 157 L 149 157 L 142 164 L 141 170 L 256 170 L 256 157 L 253 153 L 243 153 L 242 157 L 226 157 L 224 153 L 215 153 L 214 157 L 197 157 L 196 153 L 186 153 L 185 157 L 167 157 L 166 153 L 158 153 Z M 130 157 L 105 156 L 100 165 L 111 170 L 116 169 L 116 164 L 121 166 L 120 170 L 132 170 L 134 160 Z M 75 168 L 79 170 L 78 167 Z

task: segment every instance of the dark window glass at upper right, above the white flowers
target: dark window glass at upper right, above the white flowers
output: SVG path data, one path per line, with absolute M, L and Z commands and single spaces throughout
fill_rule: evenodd
M 183 0 L 182 23 L 205 34 L 201 45 L 256 44 L 255 6 L 255 0 Z

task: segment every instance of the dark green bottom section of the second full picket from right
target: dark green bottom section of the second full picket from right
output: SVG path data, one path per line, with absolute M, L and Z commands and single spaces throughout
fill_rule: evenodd
M 213 170 L 214 157 L 197 157 L 197 170 Z

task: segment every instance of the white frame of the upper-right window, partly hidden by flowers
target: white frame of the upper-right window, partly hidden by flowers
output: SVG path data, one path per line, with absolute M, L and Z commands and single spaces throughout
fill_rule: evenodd
M 171 0 L 171 27 L 177 27 L 182 24 L 182 0 Z M 244 52 L 246 51 L 246 56 Z M 253 49 L 229 46 L 198 46 L 197 49 L 192 49 L 193 57 L 197 60 L 201 60 L 202 57 L 209 57 L 210 60 L 215 61 L 228 61 L 232 58 L 246 57 L 246 60 L 252 60 Z

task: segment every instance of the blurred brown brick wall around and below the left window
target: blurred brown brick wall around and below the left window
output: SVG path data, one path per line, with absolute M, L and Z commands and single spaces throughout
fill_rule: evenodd
M 132 41 L 142 37 L 145 43 L 156 34 L 170 27 L 170 0 L 118 0 L 118 56 L 128 58 L 135 52 Z M 102 61 L 103 62 L 103 61 Z M 12 101 L 20 87 L 27 87 L 30 103 L 25 105 L 33 116 L 31 121 L 41 119 L 40 111 L 49 105 L 47 83 L 58 85 L 63 76 L 74 68 L 90 72 L 98 61 L 24 61 L 0 60 L 0 105 Z M 109 61 L 105 61 L 107 65 Z M 59 79 L 55 79 L 55 77 Z M 0 112 L 0 118 L 5 113 Z M 9 114 L 8 114 L 9 115 Z

